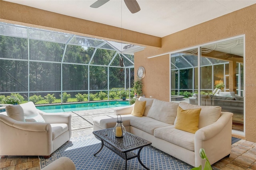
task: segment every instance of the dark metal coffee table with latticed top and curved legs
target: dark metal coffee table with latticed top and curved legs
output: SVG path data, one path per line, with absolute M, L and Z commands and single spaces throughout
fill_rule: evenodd
M 117 138 L 113 133 L 113 128 L 93 131 L 92 133 L 101 141 L 101 148 L 94 154 L 94 156 L 96 156 L 96 154 L 98 154 L 105 146 L 125 160 L 125 169 L 127 168 L 127 160 L 138 158 L 140 164 L 149 170 L 149 168 L 147 168 L 140 160 L 140 151 L 143 147 L 151 145 L 152 143 L 150 141 L 146 141 L 145 139 L 128 132 L 126 132 L 124 137 Z M 133 150 L 136 149 L 139 149 L 138 153 L 133 152 Z

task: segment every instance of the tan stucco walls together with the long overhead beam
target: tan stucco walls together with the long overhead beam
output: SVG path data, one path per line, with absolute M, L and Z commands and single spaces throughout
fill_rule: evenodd
M 256 4 L 162 39 L 124 29 L 121 36 L 120 28 L 2 0 L 0 0 L 0 20 L 144 45 L 147 48 L 135 54 L 135 72 L 139 66 L 144 66 L 146 69 L 146 76 L 143 79 L 144 94 L 146 97 L 153 96 L 165 101 L 169 101 L 170 95 L 169 57 L 168 55 L 152 59 L 147 57 L 245 34 L 245 138 L 256 142 L 256 59 L 254 59 L 256 57 Z M 161 45 L 162 48 L 158 48 Z

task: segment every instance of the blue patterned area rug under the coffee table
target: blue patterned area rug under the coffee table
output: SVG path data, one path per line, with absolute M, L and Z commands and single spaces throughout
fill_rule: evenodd
M 66 156 L 74 162 L 76 170 L 125 169 L 125 160 L 106 147 L 96 156 L 93 156 L 100 147 L 101 142 L 94 135 L 79 137 L 62 145 L 48 159 L 39 156 L 40 168 L 47 166 L 61 156 Z M 193 166 L 151 146 L 142 149 L 140 159 L 150 170 L 190 170 L 193 168 Z M 140 165 L 137 158 L 134 158 L 128 160 L 127 170 L 145 170 L 145 168 Z M 218 170 L 218 168 L 213 167 L 213 170 Z

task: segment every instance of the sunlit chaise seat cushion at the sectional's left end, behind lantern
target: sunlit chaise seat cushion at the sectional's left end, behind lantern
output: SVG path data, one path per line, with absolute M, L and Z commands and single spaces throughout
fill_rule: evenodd
M 121 115 L 124 127 L 130 126 L 130 118 L 134 117 L 131 114 Z M 93 118 L 93 124 L 101 127 L 102 129 L 108 129 L 115 127 L 117 121 L 117 115 L 103 115 Z

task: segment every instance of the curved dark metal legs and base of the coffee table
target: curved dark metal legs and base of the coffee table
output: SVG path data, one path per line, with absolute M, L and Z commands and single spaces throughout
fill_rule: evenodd
M 123 158 L 125 160 L 125 170 L 127 169 L 127 160 L 133 159 L 133 158 L 138 158 L 138 161 L 140 162 L 140 164 L 146 169 L 146 170 L 150 170 L 149 168 L 147 168 L 140 160 L 140 151 L 142 150 L 142 148 L 144 147 L 140 147 L 138 153 L 134 153 L 132 151 L 129 152 L 119 152 L 118 150 L 116 150 L 114 147 L 111 147 L 111 145 L 108 145 L 108 143 L 104 143 L 104 141 L 102 139 L 101 140 L 101 148 L 100 150 L 98 150 L 98 152 L 96 152 L 95 154 L 93 154 L 94 156 L 96 156 L 96 154 L 98 154 L 103 147 L 107 147 L 108 149 L 112 150 L 113 152 L 115 152 L 116 154 L 118 154 L 121 158 Z

